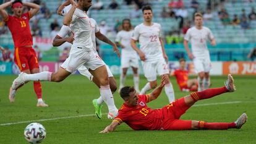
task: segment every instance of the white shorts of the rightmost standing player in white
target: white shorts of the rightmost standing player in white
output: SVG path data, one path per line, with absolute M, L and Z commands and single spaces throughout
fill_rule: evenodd
M 211 70 L 210 57 L 205 59 L 194 58 L 193 63 L 194 63 L 195 73 L 197 74 L 199 72 L 210 72 Z

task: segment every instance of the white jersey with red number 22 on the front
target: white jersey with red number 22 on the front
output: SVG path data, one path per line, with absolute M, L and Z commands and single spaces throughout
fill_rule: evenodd
M 163 59 L 163 51 L 160 43 L 161 25 L 153 23 L 146 26 L 143 23 L 134 28 L 133 40 L 139 40 L 140 50 L 145 54 L 146 61 Z

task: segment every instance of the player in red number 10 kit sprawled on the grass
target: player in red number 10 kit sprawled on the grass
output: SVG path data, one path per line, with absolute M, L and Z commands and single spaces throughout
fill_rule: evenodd
M 118 116 L 101 133 L 113 132 L 122 122 L 126 122 L 134 130 L 224 130 L 241 129 L 242 125 L 247 121 L 245 113 L 235 122 L 204 122 L 179 119 L 196 101 L 235 91 L 236 88 L 231 75 L 228 75 L 228 80 L 224 87 L 191 93 L 161 109 L 148 108 L 147 103 L 155 100 L 160 95 L 166 78 L 168 77 L 164 76 L 161 79 L 161 85 L 149 95 L 137 95 L 133 87 L 122 88 L 120 95 L 124 99 L 124 104 L 119 109 Z

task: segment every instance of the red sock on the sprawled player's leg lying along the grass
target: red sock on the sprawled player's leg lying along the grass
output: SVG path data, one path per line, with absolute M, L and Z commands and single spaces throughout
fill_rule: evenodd
M 226 129 L 236 129 L 236 124 L 234 122 L 198 122 L 198 129 L 207 130 L 226 130 Z

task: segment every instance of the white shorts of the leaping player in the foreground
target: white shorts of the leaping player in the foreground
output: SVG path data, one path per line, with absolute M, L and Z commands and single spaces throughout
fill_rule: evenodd
M 85 66 L 87 69 L 95 70 L 98 67 L 104 66 L 105 63 L 100 57 L 96 56 L 93 51 L 85 51 L 80 48 L 73 47 L 69 53 L 69 57 L 61 65 L 63 69 L 68 72 L 74 72 L 81 66 Z

